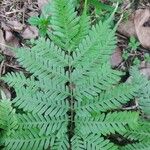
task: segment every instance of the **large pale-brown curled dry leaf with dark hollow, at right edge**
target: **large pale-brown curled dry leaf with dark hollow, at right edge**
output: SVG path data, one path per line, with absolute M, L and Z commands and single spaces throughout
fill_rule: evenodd
M 134 24 L 138 39 L 145 48 L 150 48 L 150 10 L 139 9 L 135 12 Z

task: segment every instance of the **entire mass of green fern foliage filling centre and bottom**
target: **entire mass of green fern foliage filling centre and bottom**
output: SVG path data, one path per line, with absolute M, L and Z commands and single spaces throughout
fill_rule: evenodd
M 49 39 L 16 51 L 31 75 L 2 77 L 16 98 L 0 102 L 0 145 L 4 150 L 148 150 L 149 123 L 123 105 L 136 98 L 147 113 L 149 81 L 132 69 L 136 78 L 121 83 L 123 73 L 111 69 L 116 45 L 111 18 L 90 28 L 86 7 L 81 16 L 71 0 L 53 0 L 50 7 Z

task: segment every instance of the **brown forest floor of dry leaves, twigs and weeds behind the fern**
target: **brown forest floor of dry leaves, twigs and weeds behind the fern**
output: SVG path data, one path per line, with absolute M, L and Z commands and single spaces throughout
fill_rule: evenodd
M 115 69 L 126 72 L 138 65 L 142 74 L 150 78 L 150 3 L 131 2 L 130 0 L 101 0 L 101 3 L 90 6 L 90 13 L 97 19 L 110 15 L 110 10 L 119 2 L 115 15 L 116 22 L 121 19 L 117 29 L 118 44 L 111 57 Z M 39 29 L 30 25 L 31 16 L 40 16 L 41 9 L 48 0 L 0 0 L 0 76 L 7 72 L 24 71 L 15 58 L 12 48 L 25 47 L 28 40 L 39 37 Z M 107 7 L 102 7 L 102 4 Z M 10 99 L 13 91 L 3 82 L 1 90 Z

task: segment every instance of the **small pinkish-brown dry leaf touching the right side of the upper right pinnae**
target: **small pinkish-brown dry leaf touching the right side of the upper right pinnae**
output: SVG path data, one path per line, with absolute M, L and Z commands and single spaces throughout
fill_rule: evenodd
M 122 62 L 122 52 L 119 47 L 116 48 L 116 51 L 111 56 L 111 66 L 117 67 Z

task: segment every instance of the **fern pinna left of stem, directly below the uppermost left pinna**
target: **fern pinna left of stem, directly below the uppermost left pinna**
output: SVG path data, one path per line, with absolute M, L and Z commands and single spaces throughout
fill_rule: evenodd
M 27 71 L 33 73 L 34 76 L 38 76 L 38 78 L 45 76 L 50 79 L 53 77 L 67 78 L 63 67 L 52 64 L 50 60 L 44 60 L 41 56 L 36 56 L 35 52 L 20 50 L 18 57 L 20 64 L 27 68 Z

